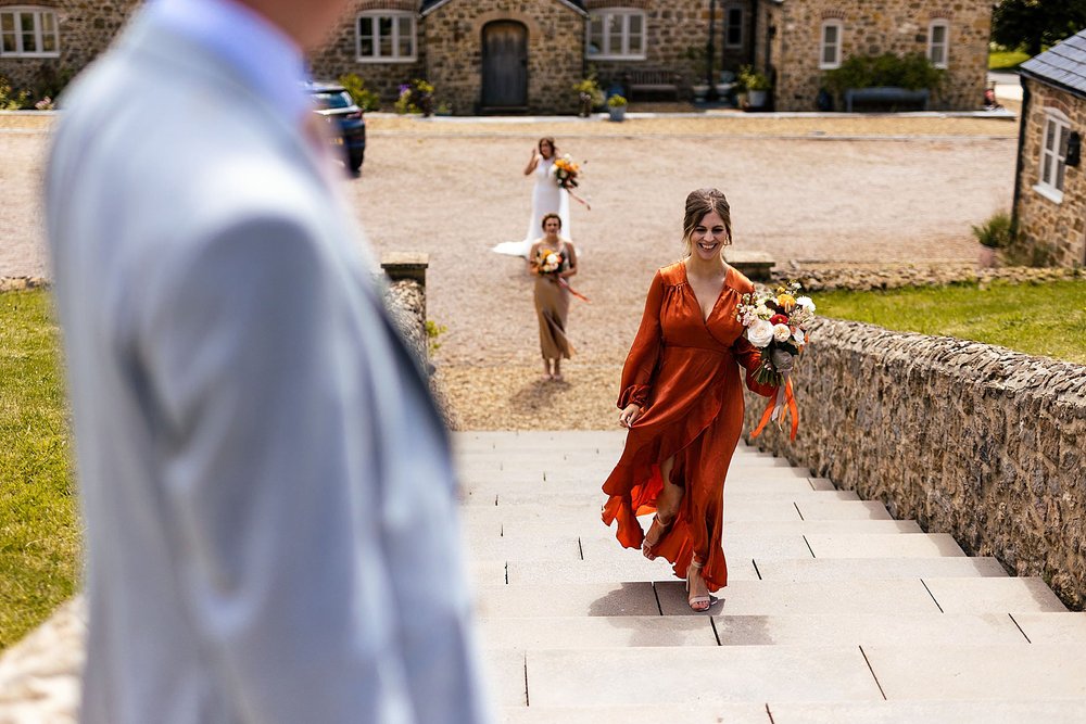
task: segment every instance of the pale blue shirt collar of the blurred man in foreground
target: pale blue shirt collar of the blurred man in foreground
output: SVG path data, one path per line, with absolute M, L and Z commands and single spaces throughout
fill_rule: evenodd
M 147 14 L 228 63 L 292 123 L 313 109 L 301 48 L 260 13 L 233 0 L 153 0 Z

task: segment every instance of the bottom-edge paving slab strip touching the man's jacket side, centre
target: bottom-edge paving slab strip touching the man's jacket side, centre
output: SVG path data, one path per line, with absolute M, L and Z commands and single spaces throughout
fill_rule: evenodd
M 773 724 L 766 704 L 718 702 L 702 706 L 520 707 L 501 713 L 505 724 Z

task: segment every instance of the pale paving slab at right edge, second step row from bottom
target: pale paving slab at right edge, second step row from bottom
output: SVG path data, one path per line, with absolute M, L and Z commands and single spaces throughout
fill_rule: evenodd
M 863 652 L 892 701 L 1086 699 L 1082 647 L 864 646 Z

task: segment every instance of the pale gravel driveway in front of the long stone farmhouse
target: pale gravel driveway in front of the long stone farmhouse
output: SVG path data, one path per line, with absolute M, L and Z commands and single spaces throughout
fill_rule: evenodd
M 12 127 L 14 126 L 14 127 Z M 1016 124 L 964 118 L 634 118 L 483 123 L 374 116 L 364 174 L 346 186 L 378 251 L 430 254 L 438 363 L 466 428 L 614 422 L 618 369 L 653 270 L 679 255 L 683 200 L 728 194 L 736 249 L 778 261 L 970 259 L 970 225 L 1008 209 Z M 584 164 L 592 211 L 572 209 L 581 255 L 568 383 L 541 383 L 522 264 L 488 250 L 523 233 L 542 135 Z M 37 189 L 47 136 L 0 118 L 0 276 L 42 275 Z

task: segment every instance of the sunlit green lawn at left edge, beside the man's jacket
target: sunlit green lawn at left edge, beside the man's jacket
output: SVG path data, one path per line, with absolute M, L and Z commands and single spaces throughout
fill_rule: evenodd
M 0 649 L 77 585 L 80 536 L 58 350 L 46 292 L 0 294 Z

